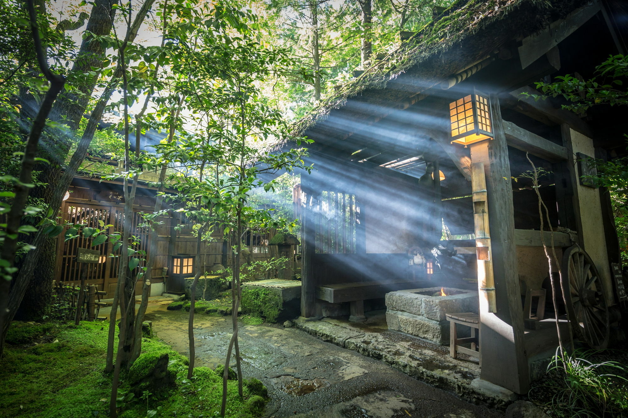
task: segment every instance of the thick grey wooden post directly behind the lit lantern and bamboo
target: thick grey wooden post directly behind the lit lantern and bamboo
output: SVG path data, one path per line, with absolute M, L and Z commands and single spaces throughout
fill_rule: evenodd
M 494 139 L 470 146 L 472 163 L 484 163 L 495 282 L 496 313 L 480 306 L 480 378 L 524 394 L 529 389 L 523 308 L 514 242 L 508 147 L 497 95 L 490 98 Z

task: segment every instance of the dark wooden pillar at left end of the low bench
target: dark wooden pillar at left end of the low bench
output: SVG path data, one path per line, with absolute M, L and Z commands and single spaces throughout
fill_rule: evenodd
M 305 180 L 305 179 L 304 179 Z M 301 210 L 301 317 L 316 317 L 316 278 L 314 255 L 316 252 L 316 213 L 320 192 L 301 185 L 306 193 L 305 208 Z

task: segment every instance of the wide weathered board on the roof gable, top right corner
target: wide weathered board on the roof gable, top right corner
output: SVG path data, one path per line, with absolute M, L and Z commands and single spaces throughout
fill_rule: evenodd
M 521 68 L 528 67 L 528 65 L 543 56 L 544 53 L 561 43 L 576 29 L 587 23 L 588 19 L 595 16 L 598 11 L 600 11 L 600 5 L 597 2 L 587 4 L 587 6 L 571 12 L 564 19 L 550 23 L 547 28 L 539 33 L 524 38 L 522 45 L 519 46 Z

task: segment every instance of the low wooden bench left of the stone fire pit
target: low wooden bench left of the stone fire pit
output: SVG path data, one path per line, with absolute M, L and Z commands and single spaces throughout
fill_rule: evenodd
M 364 301 L 367 299 L 377 299 L 384 297 L 388 292 L 415 289 L 420 286 L 416 281 L 408 279 L 395 279 L 386 282 L 352 282 L 325 284 L 317 286 L 316 297 L 329 303 L 349 302 L 349 321 L 364 322 Z

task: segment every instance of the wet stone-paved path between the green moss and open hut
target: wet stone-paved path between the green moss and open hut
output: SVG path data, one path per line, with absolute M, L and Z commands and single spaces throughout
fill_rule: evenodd
M 151 303 L 146 319 L 153 321 L 156 335 L 188 355 L 187 315 Z M 197 315 L 196 364 L 223 363 L 230 336 L 230 318 Z M 296 328 L 240 324 L 239 336 L 244 375 L 259 378 L 269 390 L 266 418 L 504 416 Z

